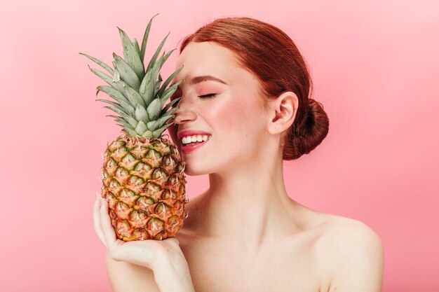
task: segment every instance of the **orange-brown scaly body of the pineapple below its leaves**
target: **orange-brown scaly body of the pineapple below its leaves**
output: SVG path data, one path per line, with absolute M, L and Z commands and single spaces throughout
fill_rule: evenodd
M 175 236 L 187 218 L 184 167 L 168 139 L 122 134 L 107 145 L 102 197 L 118 239 Z

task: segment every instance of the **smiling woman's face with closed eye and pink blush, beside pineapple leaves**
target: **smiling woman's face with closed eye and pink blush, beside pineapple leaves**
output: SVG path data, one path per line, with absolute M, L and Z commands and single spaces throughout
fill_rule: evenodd
M 175 124 L 168 127 L 186 162 L 185 173 L 201 175 L 230 172 L 247 166 L 263 153 L 263 100 L 255 76 L 238 65 L 236 55 L 212 42 L 189 43 L 177 60 L 180 83 L 171 99 L 181 97 Z M 178 132 L 195 130 L 210 134 L 194 151 L 182 152 Z

